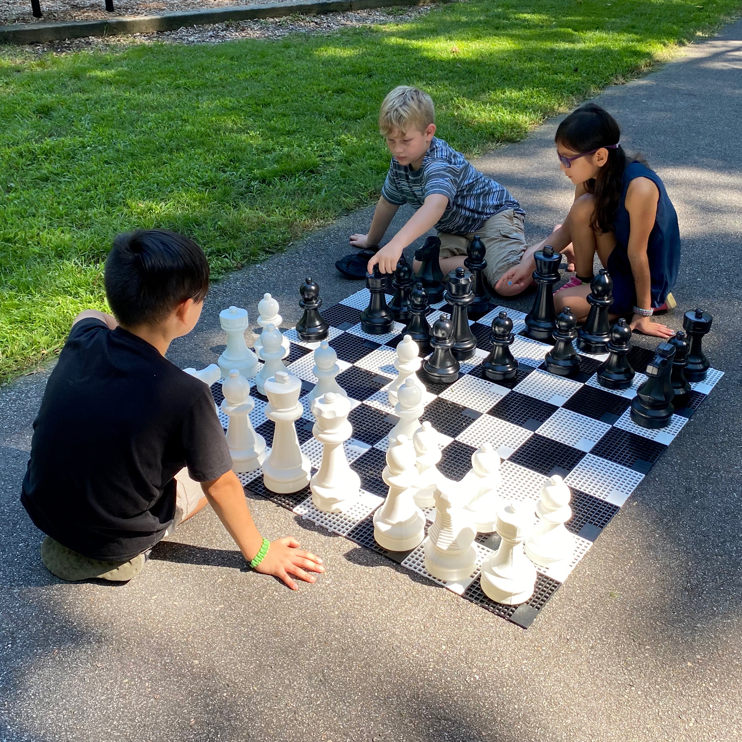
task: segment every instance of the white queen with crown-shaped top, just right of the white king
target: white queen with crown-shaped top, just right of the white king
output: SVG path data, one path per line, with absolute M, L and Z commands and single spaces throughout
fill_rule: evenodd
M 343 447 L 353 432 L 349 412 L 350 402 L 339 394 L 328 392 L 312 401 L 312 435 L 322 444 L 322 463 L 309 487 L 312 503 L 323 513 L 342 513 L 361 495 L 361 479 L 350 468 Z

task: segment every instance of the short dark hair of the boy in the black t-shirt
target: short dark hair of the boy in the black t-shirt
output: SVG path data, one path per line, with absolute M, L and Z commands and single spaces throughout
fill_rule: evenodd
M 167 229 L 116 234 L 105 261 L 105 292 L 116 319 L 129 326 L 162 322 L 180 302 L 209 290 L 203 250 Z

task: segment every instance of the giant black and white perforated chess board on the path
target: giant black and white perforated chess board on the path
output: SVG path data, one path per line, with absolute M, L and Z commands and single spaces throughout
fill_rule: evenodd
M 460 481 L 471 468 L 472 453 L 484 441 L 490 441 L 503 459 L 500 494 L 505 502 L 531 501 L 535 505 L 545 477 L 554 474 L 563 476 L 572 491 L 573 516 L 566 527 L 576 536 L 573 559 L 568 564 L 548 569 L 537 567 L 538 579 L 531 599 L 522 605 L 501 605 L 490 600 L 479 586 L 479 565 L 499 545 L 496 534 L 477 536 L 476 569 L 459 582 L 441 582 L 427 573 L 424 542 L 412 551 L 392 552 L 381 548 L 373 538 L 372 513 L 387 494 L 387 485 L 381 479 L 386 463 L 387 435 L 397 421 L 385 390 L 396 375 L 395 347 L 402 339 L 404 325 L 395 324 L 394 331 L 388 335 L 363 332 L 361 311 L 368 305 L 369 296 L 368 289 L 363 289 L 321 312 L 330 324 L 329 344 L 338 355 L 341 368 L 338 384 L 352 401 L 349 421 L 353 437 L 346 441 L 345 451 L 351 467 L 361 477 L 360 501 L 347 513 L 330 515 L 312 505 L 309 487 L 288 495 L 273 493 L 263 486 L 260 470 L 238 475 L 240 481 L 252 495 L 272 500 L 487 611 L 528 628 L 559 585 L 577 568 L 654 462 L 680 435 L 723 373 L 709 369 L 704 381 L 692 384 L 689 406 L 673 416 L 669 427 L 646 430 L 631 421 L 628 411 L 631 398 L 646 379 L 645 375 L 637 372 L 628 390 L 606 390 L 595 377 L 597 367 L 606 356 L 583 354 L 581 372 L 576 378 L 555 376 L 543 370 L 544 355 L 550 346 L 519 334 L 525 327 L 522 312 L 498 306 L 479 321 L 470 323 L 477 338 L 476 355 L 461 364 L 458 381 L 449 385 L 424 382 L 427 395 L 420 419 L 430 420 L 443 436 L 439 470 L 449 479 Z M 390 299 L 387 296 L 387 301 Z M 441 306 L 428 316 L 431 325 L 440 315 Z M 510 348 L 519 368 L 516 378 L 495 384 L 485 378 L 480 364 L 492 348 L 492 319 L 502 309 L 513 320 L 516 338 Z M 301 378 L 306 396 L 317 381 L 312 374 L 312 350 L 318 344 L 300 341 L 293 329 L 284 334 L 291 342 L 289 355 L 283 362 L 290 372 Z M 643 370 L 652 355 L 649 350 L 634 347 L 628 360 L 635 370 Z M 223 399 L 220 382 L 211 389 L 214 401 L 220 404 Z M 270 446 L 274 424 L 264 412 L 267 399 L 254 387 L 252 396 L 255 399 L 255 409 L 250 414 L 252 424 Z M 306 402 L 303 406 L 304 413 L 296 421 L 296 430 L 301 449 L 312 462 L 314 473 L 321 462 L 322 445 L 312 438 L 314 417 Z M 226 416 L 220 413 L 220 417 L 226 428 Z M 435 511 L 430 508 L 425 514 L 427 525 L 430 525 Z

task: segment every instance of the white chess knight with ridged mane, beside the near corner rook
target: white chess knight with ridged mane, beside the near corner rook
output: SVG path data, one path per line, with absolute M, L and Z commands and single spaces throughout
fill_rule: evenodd
M 427 531 L 424 546 L 425 568 L 444 582 L 469 577 L 476 565 L 476 529 L 470 514 L 456 504 L 451 485 L 455 483 L 436 488 L 436 520 Z

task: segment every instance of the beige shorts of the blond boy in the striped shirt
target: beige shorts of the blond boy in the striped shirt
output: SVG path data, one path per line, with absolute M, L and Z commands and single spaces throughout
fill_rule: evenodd
M 476 232 L 469 234 L 439 232 L 441 257 L 466 255 L 467 247 L 475 234 L 479 234 L 479 238 L 485 243 L 487 267 L 484 273 L 490 286 L 494 286 L 500 276 L 520 262 L 527 247 L 522 214 L 516 214 L 513 209 L 500 211 L 487 219 Z

